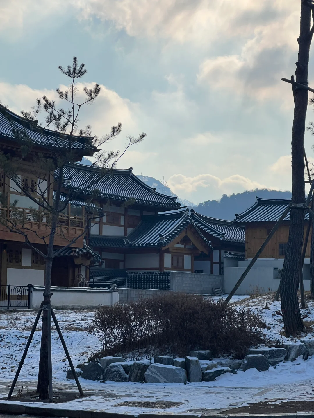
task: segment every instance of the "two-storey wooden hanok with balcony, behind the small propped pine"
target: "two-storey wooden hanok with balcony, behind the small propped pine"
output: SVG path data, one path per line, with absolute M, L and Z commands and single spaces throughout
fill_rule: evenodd
M 15 138 L 14 130 L 21 133 L 20 140 Z M 95 152 L 95 147 L 91 145 L 91 138 L 74 136 L 72 148 L 76 161 L 80 161 L 83 156 L 92 156 Z M 36 122 L 30 122 L 23 117 L 15 115 L 13 112 L 1 107 L 0 112 L 0 151 L 1 153 L 13 157 L 21 156 L 21 144 L 23 140 L 30 140 L 33 144 L 31 154 L 44 155 L 45 158 L 50 158 L 52 149 L 58 147 L 67 147 L 68 136 L 60 136 L 51 130 L 42 129 L 36 126 Z M 22 142 L 21 142 L 22 141 Z M 60 148 L 61 150 L 63 148 Z M 27 188 L 34 198 L 39 199 L 41 192 L 45 193 L 45 198 L 52 204 L 54 199 L 53 190 L 53 173 L 42 172 L 40 178 L 36 177 L 36 172 L 40 173 L 40 169 L 33 166 L 32 155 L 28 155 L 23 159 L 21 171 L 16 173 L 17 178 L 20 179 L 21 188 Z M 22 189 L 19 189 L 14 181 L 5 176 L 0 167 L 0 194 L 5 196 L 6 204 L 0 203 L 0 210 L 2 217 L 5 219 L 12 219 L 13 209 L 10 206 L 14 201 L 17 201 L 15 208 L 21 213 L 23 219 L 24 232 L 27 232 L 28 240 L 31 244 L 39 250 L 45 252 L 44 241 L 42 236 L 49 236 L 49 223 L 47 216 L 41 211 L 41 208 L 31 200 L 28 196 L 23 194 Z M 56 248 L 62 248 L 69 244 L 74 238 L 80 236 L 84 231 L 84 217 L 83 208 L 84 201 L 74 201 L 69 205 L 66 213 L 60 214 L 59 226 L 55 236 L 54 244 Z M 34 212 L 35 211 L 35 212 Z M 34 215 L 37 214 L 37 216 Z M 71 254 L 73 247 L 81 248 L 80 254 Z M 44 285 L 45 276 L 45 260 L 36 251 L 32 250 L 26 245 L 25 237 L 18 233 L 12 232 L 4 224 L 0 224 L 0 284 L 1 285 L 24 285 L 28 283 L 33 285 Z M 53 280 L 61 273 L 62 263 L 71 265 L 71 276 L 64 277 L 63 285 L 73 283 L 75 277 L 80 273 L 80 265 L 87 264 L 93 255 L 91 250 L 84 244 L 84 237 L 80 237 L 75 244 L 67 249 L 64 257 L 59 257 L 54 260 L 53 265 Z M 86 259 L 86 260 L 85 260 Z M 64 260 L 64 261 L 62 261 Z M 80 260 L 81 263 L 77 261 Z M 58 283 L 59 284 L 59 283 Z

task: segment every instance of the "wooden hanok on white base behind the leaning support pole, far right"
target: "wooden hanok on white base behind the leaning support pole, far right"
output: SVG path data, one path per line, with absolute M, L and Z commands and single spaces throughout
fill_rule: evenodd
M 275 223 L 291 203 L 290 199 L 261 199 L 256 197 L 256 202 L 241 214 L 236 214 L 235 225 L 245 227 L 245 259 L 230 259 L 228 267 L 224 268 L 225 291 L 229 293 L 234 284 L 240 278 L 245 268 L 259 250 L 267 238 Z M 304 235 L 308 224 L 309 215 L 305 214 Z M 280 281 L 280 269 L 286 255 L 286 247 L 289 235 L 290 213 L 278 227 L 268 245 L 255 262 L 245 280 L 237 290 L 237 294 L 248 294 L 254 291 L 275 291 Z M 309 290 L 309 257 L 311 235 L 306 247 L 306 255 L 303 265 L 304 288 Z

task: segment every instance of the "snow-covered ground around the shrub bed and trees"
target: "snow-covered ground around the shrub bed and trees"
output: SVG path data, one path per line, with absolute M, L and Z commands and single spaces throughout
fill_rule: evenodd
M 236 296 L 232 298 L 235 306 L 245 306 L 258 312 L 270 329 L 264 329 L 270 342 L 296 341 L 282 336 L 282 317 L 280 302 L 273 302 L 274 295 L 261 296 L 256 299 Z M 266 305 L 267 303 L 267 305 Z M 306 301 L 307 308 L 302 315 L 308 315 L 305 322 L 314 321 L 314 303 Z M 93 352 L 100 349 L 98 340 L 89 335 L 86 327 L 93 319 L 93 311 L 55 311 L 64 339 L 76 366 L 87 360 Z M 21 359 L 36 312 L 24 311 L 10 313 L 0 311 L 0 395 L 8 393 L 18 362 Z M 40 323 L 39 323 L 40 324 Z M 38 373 L 40 335 L 35 332 L 33 342 L 26 357 L 15 393 L 21 386 L 28 390 L 36 388 Z M 304 335 L 305 336 L 305 335 Z M 307 338 L 314 337 L 314 331 Z M 301 338 L 301 336 L 300 336 Z M 69 364 L 65 359 L 57 331 L 52 331 L 52 364 L 53 384 L 55 389 L 75 390 L 75 382 L 65 378 Z M 284 362 L 266 372 L 250 369 L 238 371 L 237 375 L 225 374 L 214 382 L 178 384 L 146 384 L 93 382 L 80 377 L 86 398 L 70 401 L 63 407 L 80 410 L 100 410 L 116 413 L 214 413 L 217 410 L 256 403 L 264 400 L 309 400 L 314 391 L 314 356 L 307 360 L 302 358 L 294 362 Z M 176 402 L 179 405 L 155 409 L 156 402 Z M 3 401 L 0 401 L 3 402 Z M 141 402 L 134 406 L 133 402 Z M 143 403 L 144 402 L 144 403 Z M 40 405 L 40 403 L 36 403 Z M 61 405 L 51 405 L 59 408 Z M 168 405 L 166 405 L 168 406 Z

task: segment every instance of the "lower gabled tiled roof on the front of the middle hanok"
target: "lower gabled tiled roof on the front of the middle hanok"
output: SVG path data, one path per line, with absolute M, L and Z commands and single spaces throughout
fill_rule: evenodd
M 91 235 L 90 245 L 92 247 L 165 247 L 189 224 L 193 224 L 193 219 L 186 208 L 179 209 L 177 212 L 144 215 L 141 222 L 127 237 Z M 206 245 L 211 247 L 210 241 L 203 236 L 197 225 L 194 227 Z

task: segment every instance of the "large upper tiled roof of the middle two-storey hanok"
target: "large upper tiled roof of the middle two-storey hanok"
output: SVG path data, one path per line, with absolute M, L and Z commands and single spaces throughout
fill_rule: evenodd
M 70 178 L 71 181 L 65 187 L 77 188 L 77 191 L 86 195 L 97 190 L 98 196 L 105 199 L 131 201 L 156 209 L 180 207 L 176 196 L 157 193 L 132 173 L 132 167 L 127 170 L 111 170 L 98 181 L 100 173 L 100 169 L 96 167 L 69 164 L 64 167 L 64 178 Z M 90 184 L 92 185 L 89 186 Z

